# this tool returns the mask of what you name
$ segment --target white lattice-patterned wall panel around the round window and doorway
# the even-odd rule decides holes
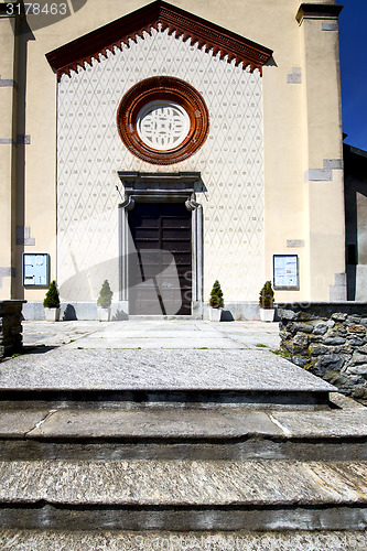
[[[117,131],[123,94],[154,75],[190,83],[211,116],[202,149],[172,166],[137,159]],[[166,31],[152,30],[86,69],[63,75],[57,114],[57,279],[63,300],[95,300],[105,277],[118,290],[119,170],[201,172],[207,188],[197,196],[204,213],[205,298],[219,279],[227,302],[257,300],[263,280],[262,91],[257,71],[248,73]]]

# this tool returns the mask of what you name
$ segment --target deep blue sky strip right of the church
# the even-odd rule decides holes
[[[367,151],[367,0],[337,0],[345,143]]]

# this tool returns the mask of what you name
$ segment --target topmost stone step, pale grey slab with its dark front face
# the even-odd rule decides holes
[[[336,388],[263,350],[74,349],[64,346],[6,361],[3,408],[61,402],[271,409],[327,408]]]

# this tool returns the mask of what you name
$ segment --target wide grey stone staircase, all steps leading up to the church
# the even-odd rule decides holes
[[[253,350],[2,363],[0,549],[366,549],[367,409],[335,390]]]

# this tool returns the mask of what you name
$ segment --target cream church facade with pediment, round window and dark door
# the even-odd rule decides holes
[[[36,8],[39,6],[39,8]],[[0,298],[234,318],[346,300],[332,0],[0,4]],[[46,8],[45,8],[46,7]]]

